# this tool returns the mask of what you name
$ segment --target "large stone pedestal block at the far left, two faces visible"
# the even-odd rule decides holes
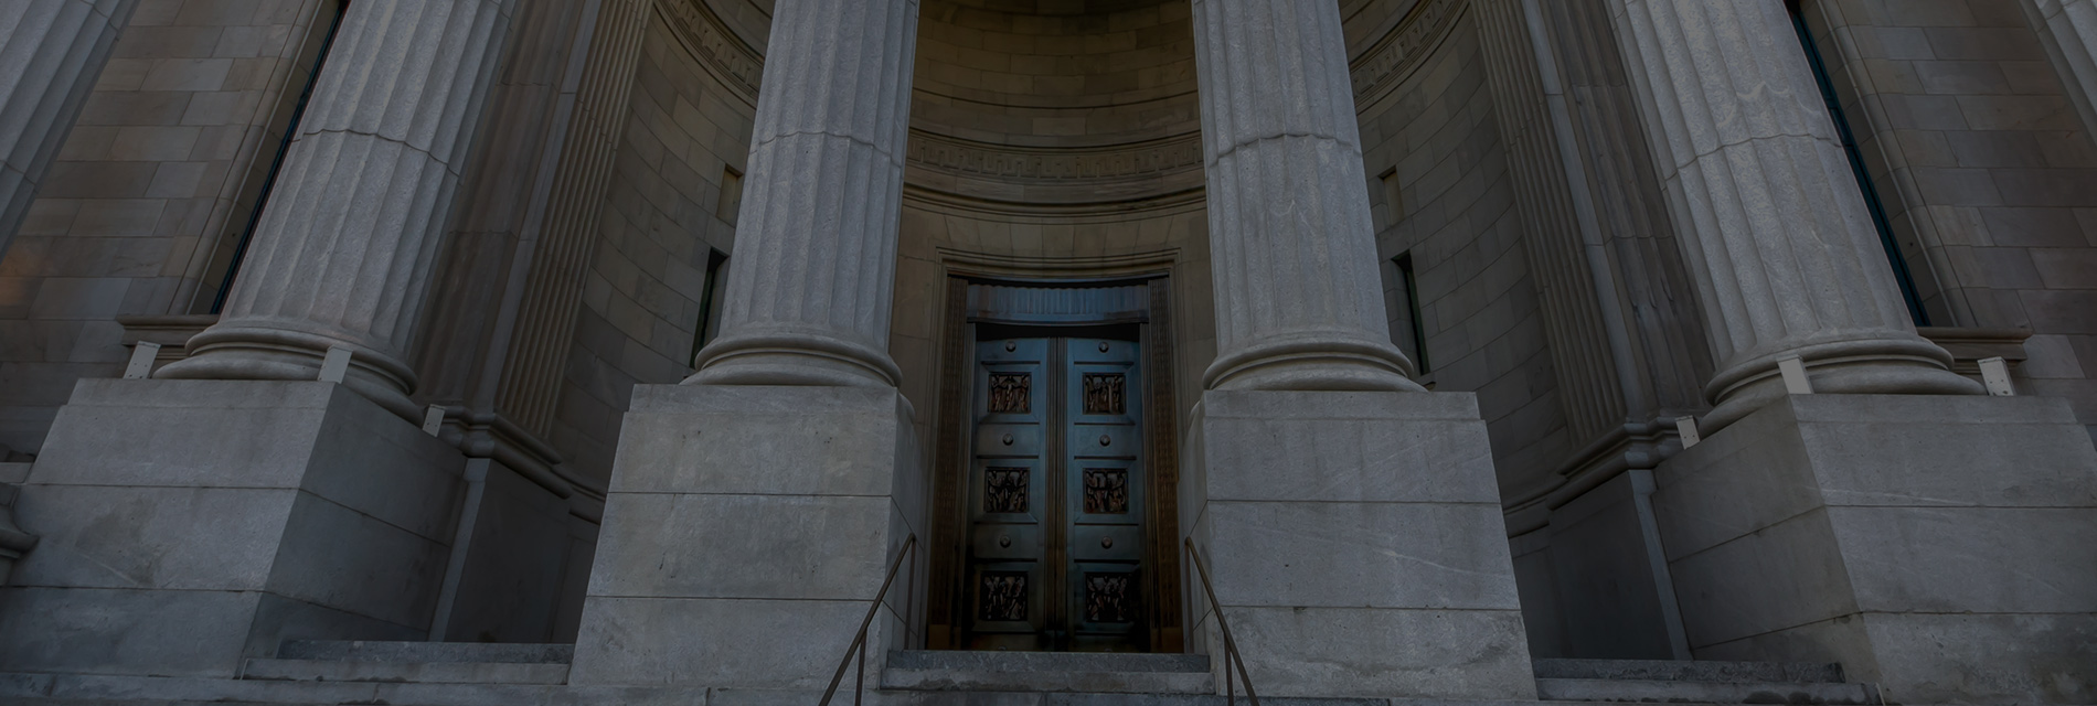
[[[424,639],[466,459],[344,385],[82,379],[0,612],[23,672],[233,677],[281,639]]]

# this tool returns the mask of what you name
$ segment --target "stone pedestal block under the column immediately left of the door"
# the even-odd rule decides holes
[[[923,543],[925,482],[895,390],[633,388],[570,683],[822,689],[904,540]],[[923,587],[921,545],[868,681],[921,641],[904,624]]]

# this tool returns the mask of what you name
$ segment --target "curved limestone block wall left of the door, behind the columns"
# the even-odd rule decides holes
[[[700,52],[723,40],[719,25],[665,4],[642,42],[552,434],[562,457],[596,478],[610,476],[633,385],[692,375],[707,262],[736,241],[721,182],[728,170],[742,174],[755,115],[755,86],[738,86],[723,63],[709,63],[717,54]]]

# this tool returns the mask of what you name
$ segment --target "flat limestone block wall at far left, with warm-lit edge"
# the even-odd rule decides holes
[[[138,4],[0,260],[0,446],[122,373],[117,314],[210,310],[333,2]]]

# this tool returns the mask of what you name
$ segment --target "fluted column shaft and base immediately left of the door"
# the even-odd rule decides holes
[[[916,0],[772,17],[721,337],[686,383],[889,385]]]

